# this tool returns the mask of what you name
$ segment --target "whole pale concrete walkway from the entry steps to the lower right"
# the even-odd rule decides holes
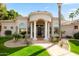
[[[59,45],[48,44],[34,44],[40,45],[47,49],[51,56],[78,56],[77,54],[71,53],[68,50],[61,48]]]

